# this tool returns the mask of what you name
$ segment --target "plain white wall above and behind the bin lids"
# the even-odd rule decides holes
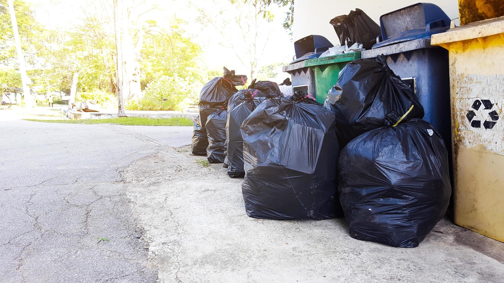
[[[295,0],[294,1],[294,41],[311,34],[325,36],[334,45],[339,44],[338,36],[329,21],[336,16],[348,15],[351,10],[359,8],[376,24],[380,25],[380,16],[412,4],[418,0]],[[451,19],[459,17],[457,0],[431,0],[439,6]]]

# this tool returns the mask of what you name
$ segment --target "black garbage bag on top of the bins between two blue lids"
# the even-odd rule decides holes
[[[352,43],[362,43],[362,47],[366,50],[371,49],[376,43],[376,37],[382,34],[380,26],[360,9],[350,11],[348,15],[338,16],[329,23],[334,26],[340,44],[343,45],[348,39]]]

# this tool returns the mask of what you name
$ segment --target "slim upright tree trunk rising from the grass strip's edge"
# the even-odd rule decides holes
[[[114,0],[114,31],[115,31],[115,49],[116,57],[116,73],[117,73],[117,116],[125,117],[124,112],[124,64],[122,62],[122,24],[124,17],[124,9],[122,0]],[[120,18],[119,18],[120,17]],[[126,80],[126,82],[128,82]]]

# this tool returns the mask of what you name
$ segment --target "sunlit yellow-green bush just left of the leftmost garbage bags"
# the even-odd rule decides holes
[[[194,77],[162,76],[149,83],[144,97],[128,104],[128,110],[182,110],[184,104],[195,103],[202,83]],[[185,100],[185,103],[184,103]]]

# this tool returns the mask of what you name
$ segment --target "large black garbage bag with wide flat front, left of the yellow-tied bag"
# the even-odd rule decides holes
[[[334,115],[302,92],[264,101],[241,127],[245,210],[260,219],[329,219],[337,193]]]

